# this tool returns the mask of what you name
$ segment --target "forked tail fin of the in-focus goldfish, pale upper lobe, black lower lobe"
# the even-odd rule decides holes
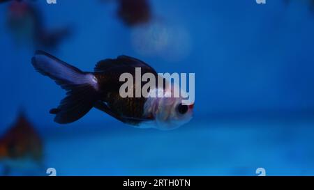
[[[50,77],[67,91],[57,109],[50,111],[56,115],[55,122],[66,124],[79,120],[98,100],[98,81],[94,74],[82,72],[43,51],[37,51],[31,63],[38,72]]]

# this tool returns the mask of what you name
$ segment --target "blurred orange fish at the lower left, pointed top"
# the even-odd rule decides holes
[[[43,140],[22,112],[0,138],[0,164],[3,175],[37,175],[43,166]]]

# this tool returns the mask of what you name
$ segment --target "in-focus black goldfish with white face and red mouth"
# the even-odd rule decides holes
[[[175,129],[193,116],[194,103],[182,104],[184,98],[181,96],[121,96],[120,88],[124,84],[120,80],[121,74],[129,73],[135,76],[135,68],[140,68],[142,76],[149,73],[160,79],[154,68],[137,58],[107,58],[96,64],[94,72],[83,72],[43,51],[37,51],[31,63],[40,74],[50,77],[67,91],[59,106],[50,110],[50,113],[55,115],[54,121],[59,124],[75,122],[92,108],[135,127],[162,130]],[[169,81],[165,82],[167,83]],[[136,85],[134,81],[133,86]],[[165,86],[154,86],[149,92],[172,93],[174,88]]]

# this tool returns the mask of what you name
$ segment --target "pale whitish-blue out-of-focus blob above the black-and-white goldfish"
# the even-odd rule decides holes
[[[192,47],[190,31],[185,26],[157,19],[133,29],[130,40],[137,54],[163,58],[170,63],[183,61]]]

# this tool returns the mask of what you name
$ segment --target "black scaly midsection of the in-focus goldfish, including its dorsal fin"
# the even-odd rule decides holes
[[[107,106],[114,113],[123,116],[124,122],[130,124],[137,124],[143,120],[151,119],[150,116],[144,116],[145,97],[122,98],[119,94],[119,88],[124,84],[124,82],[119,81],[119,77],[121,74],[128,72],[135,78],[135,67],[141,68],[142,74],[149,72],[158,77],[157,72],[147,63],[129,56],[119,56],[117,59],[100,61],[94,72],[99,84],[100,101],[107,102]],[[135,81],[134,86],[136,86]]]

